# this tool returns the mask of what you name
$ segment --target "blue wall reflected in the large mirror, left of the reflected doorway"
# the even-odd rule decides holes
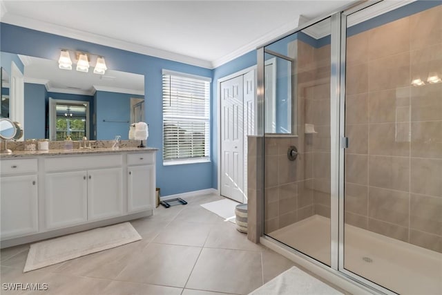
[[[46,137],[46,87],[25,83],[25,139]]]

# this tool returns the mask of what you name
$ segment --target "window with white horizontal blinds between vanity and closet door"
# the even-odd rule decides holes
[[[210,161],[210,82],[163,70],[164,165]]]

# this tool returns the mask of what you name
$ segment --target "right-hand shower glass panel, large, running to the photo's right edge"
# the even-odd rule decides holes
[[[399,294],[442,294],[441,16],[347,17],[344,268]]]

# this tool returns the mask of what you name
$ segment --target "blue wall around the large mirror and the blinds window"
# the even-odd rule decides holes
[[[0,23],[0,30],[1,51],[3,52],[58,60],[60,48],[72,48],[103,55],[106,57],[106,65],[109,69],[144,75],[146,123],[149,125],[147,142],[148,146],[159,149],[157,152],[157,187],[161,187],[163,196],[212,187],[211,162],[176,166],[162,165],[162,69],[204,77],[212,77],[212,70],[7,23]],[[256,63],[256,58],[254,63]]]

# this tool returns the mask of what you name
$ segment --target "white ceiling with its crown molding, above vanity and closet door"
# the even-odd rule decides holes
[[[355,1],[1,2],[5,23],[214,68]]]

